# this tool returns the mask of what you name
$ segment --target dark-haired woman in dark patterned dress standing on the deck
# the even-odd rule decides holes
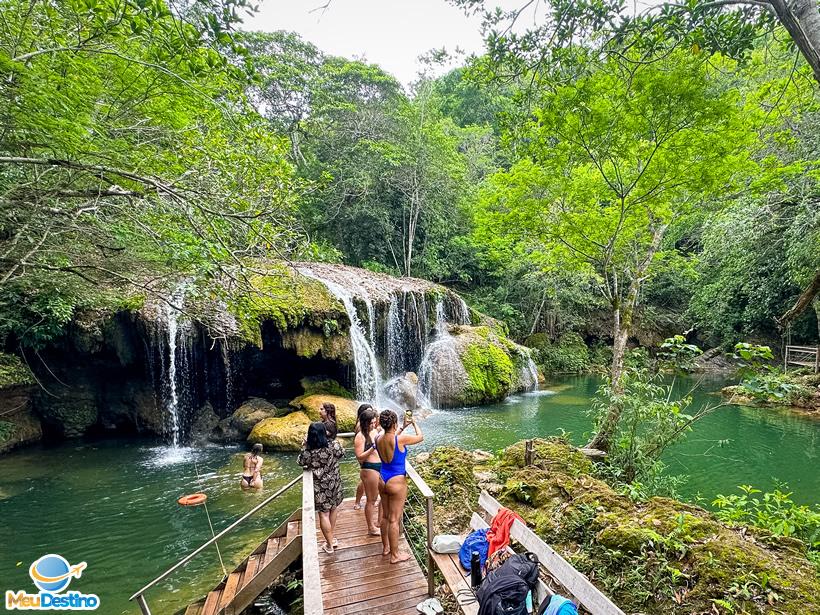
[[[336,528],[336,517],[339,504],[342,503],[342,475],[339,472],[339,459],[344,456],[344,449],[337,440],[328,440],[327,429],[322,422],[311,423],[302,452],[297,460],[306,470],[313,471],[313,501],[319,513],[319,527],[325,537],[322,549],[333,553],[339,541],[333,536]]]

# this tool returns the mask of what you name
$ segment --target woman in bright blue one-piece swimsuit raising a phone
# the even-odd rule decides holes
[[[392,410],[383,410],[379,415],[379,424],[384,433],[376,440],[376,450],[382,460],[379,472],[379,493],[382,496],[380,507],[382,533],[382,555],[390,556],[391,564],[398,564],[410,559],[409,553],[399,552],[399,528],[404,513],[404,501],[407,499],[407,447],[424,440],[418,425],[413,419],[405,418],[405,424],[398,428],[399,418]],[[403,433],[412,425],[415,435]]]

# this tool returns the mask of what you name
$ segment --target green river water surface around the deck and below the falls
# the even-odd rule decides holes
[[[422,448],[454,444],[496,450],[525,437],[567,432],[583,443],[590,429],[593,377],[562,378],[537,393],[517,395],[480,408],[439,411],[422,425]],[[691,382],[686,383],[690,385]],[[709,391],[724,384],[706,380],[695,405],[719,401]],[[685,474],[682,497],[708,504],[739,484],[770,489],[786,482],[801,503],[820,503],[820,420],[783,410],[730,406],[702,419],[667,455],[669,470]],[[59,553],[71,564],[88,563],[71,590],[96,593],[103,615],[138,613],[128,597],[208,538],[202,507],[177,499],[205,491],[219,531],[252,508],[264,494],[238,489],[239,447],[169,449],[145,440],[71,442],[0,457],[0,591],[36,593],[28,576],[32,561]],[[347,495],[356,466],[343,465]],[[294,455],[265,457],[265,493],[296,477]],[[228,569],[299,506],[293,489],[220,541]],[[148,592],[153,612],[173,613],[202,596],[221,577],[214,550]]]

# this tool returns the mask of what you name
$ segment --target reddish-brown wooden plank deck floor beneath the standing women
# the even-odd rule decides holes
[[[316,525],[316,540],[324,537]],[[364,510],[354,510],[353,500],[345,500],[336,522],[339,547],[334,553],[319,550],[322,606],[328,615],[418,615],[416,605],[427,598],[427,578],[411,557],[391,564],[382,556],[382,542],[370,536]],[[402,536],[401,548],[410,553]]]

